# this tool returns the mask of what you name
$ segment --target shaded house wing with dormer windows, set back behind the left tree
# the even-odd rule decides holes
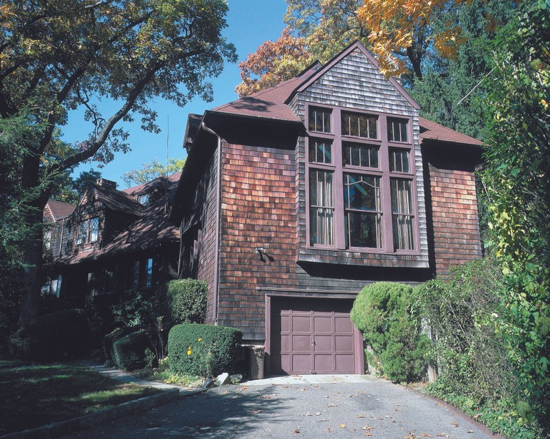
[[[101,178],[66,215],[50,200],[54,273],[50,292],[83,306],[117,300],[121,292],[154,289],[177,275],[179,229],[168,221],[180,173],[124,191]],[[54,288],[55,287],[55,288]]]

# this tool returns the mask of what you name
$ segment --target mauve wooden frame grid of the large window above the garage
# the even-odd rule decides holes
[[[331,132],[322,133],[320,131],[309,131],[307,121],[309,120],[309,111],[314,109],[327,109],[331,111]],[[344,136],[342,134],[341,120],[342,111],[374,116],[377,118],[377,139],[363,138],[358,136]],[[406,120],[407,121],[407,137],[408,142],[393,142],[388,140],[387,135],[387,120]],[[419,217],[418,217],[418,198],[417,198],[417,177],[415,167],[415,144],[412,136],[412,117],[382,113],[380,111],[364,111],[360,109],[352,109],[347,107],[338,107],[331,105],[321,105],[318,103],[305,103],[305,121],[306,121],[306,136],[305,136],[305,213],[306,213],[306,247],[316,250],[338,250],[349,251],[353,253],[379,253],[379,254],[396,254],[396,255],[419,255],[420,254],[420,233],[419,233]],[[332,158],[331,164],[317,163],[309,161],[309,148],[311,140],[330,140],[332,143]],[[378,167],[361,167],[352,164],[344,165],[344,143],[364,145],[366,147],[377,147],[378,151]],[[408,172],[390,171],[390,149],[399,149],[408,151]],[[333,220],[333,245],[326,244],[311,244],[310,221],[311,221],[311,204],[309,193],[309,175],[311,170],[322,170],[333,172],[333,205],[334,205],[334,220]],[[346,247],[345,236],[345,211],[344,208],[344,173],[355,173],[366,176],[380,177],[381,197],[382,197],[382,247]],[[395,248],[393,239],[393,213],[391,204],[391,180],[397,178],[399,180],[410,180],[411,200],[412,200],[412,250],[401,250]],[[366,211],[369,212],[369,211]]]

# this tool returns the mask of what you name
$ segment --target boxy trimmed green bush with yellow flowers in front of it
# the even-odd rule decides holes
[[[199,376],[234,372],[242,354],[242,339],[241,330],[226,326],[175,325],[168,334],[170,370]]]

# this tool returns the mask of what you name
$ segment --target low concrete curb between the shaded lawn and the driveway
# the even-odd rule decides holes
[[[204,392],[204,389],[197,389],[199,392],[182,392],[181,396],[194,395]],[[122,418],[123,416],[129,416],[131,414],[139,413],[140,411],[147,411],[153,407],[170,403],[173,400],[179,398],[179,389],[170,389],[162,393],[145,396],[144,398],[128,401],[122,403],[111,409],[104,409],[85,416],[79,416],[78,418],[63,420],[60,422],[52,422],[52,424],[44,425],[43,427],[37,427],[35,429],[29,429],[25,431],[16,431],[14,433],[8,433],[4,436],[0,436],[5,439],[43,439],[43,438],[58,438],[74,431],[87,429],[96,425],[103,424],[109,420]]]

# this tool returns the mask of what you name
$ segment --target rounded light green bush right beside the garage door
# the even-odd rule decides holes
[[[391,381],[418,381],[426,370],[430,340],[420,334],[413,303],[411,286],[377,282],[363,288],[351,310],[351,321],[372,348],[367,360]]]

